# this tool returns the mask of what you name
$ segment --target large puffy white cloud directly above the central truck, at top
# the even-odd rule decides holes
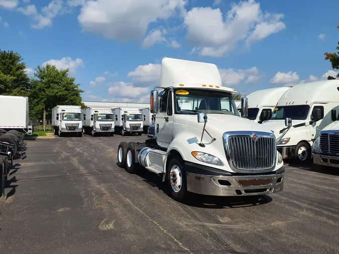
[[[200,55],[221,57],[241,42],[250,46],[285,29],[283,15],[263,14],[254,0],[233,4],[224,16],[220,9],[195,7],[184,17],[186,40]]]

